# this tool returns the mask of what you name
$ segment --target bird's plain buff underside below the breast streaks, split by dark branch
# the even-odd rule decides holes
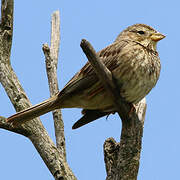
[[[120,95],[130,103],[137,103],[144,98],[158,80],[155,72],[150,74],[148,71],[142,69],[138,73],[137,71],[132,71],[126,76],[122,76],[119,73],[119,76],[115,77]],[[113,102],[104,90],[103,85],[98,81],[90,88],[66,99],[62,108],[100,109],[108,111],[109,109],[113,109]]]

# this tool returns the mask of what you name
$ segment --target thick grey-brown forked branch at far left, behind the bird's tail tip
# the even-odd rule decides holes
[[[31,104],[10,64],[13,5],[13,0],[1,1],[0,82],[16,111],[20,111],[30,107]],[[76,179],[64,157],[48,136],[39,118],[14,128],[5,122],[4,117],[0,117],[0,128],[22,134],[29,138],[55,179]]]

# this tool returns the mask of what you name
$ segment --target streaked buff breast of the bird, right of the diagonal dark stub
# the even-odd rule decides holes
[[[156,53],[134,48],[121,57],[119,72],[115,73],[120,94],[128,102],[137,103],[155,86],[160,74]]]

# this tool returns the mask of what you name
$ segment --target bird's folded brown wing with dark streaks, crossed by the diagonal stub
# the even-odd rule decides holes
[[[117,57],[127,44],[128,41],[117,41],[97,53],[100,60],[104,62],[110,71],[113,71],[118,66],[117,61],[119,61],[119,58]],[[80,92],[81,90],[91,87],[97,81],[98,77],[96,76],[93,67],[89,62],[87,62],[85,66],[66,84],[62,91],[59,92],[58,96],[63,98],[69,94],[76,93],[77,91]]]

